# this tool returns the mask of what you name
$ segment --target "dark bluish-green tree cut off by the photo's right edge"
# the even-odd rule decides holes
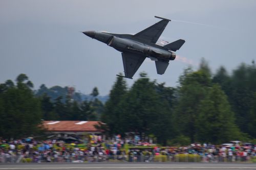
[[[256,92],[256,68],[252,65],[241,64],[233,71],[231,77],[232,89],[229,101],[233,111],[236,113],[236,123],[242,132],[252,135],[248,129],[250,124],[250,112],[253,107],[254,92]],[[256,136],[253,136],[256,137]]]

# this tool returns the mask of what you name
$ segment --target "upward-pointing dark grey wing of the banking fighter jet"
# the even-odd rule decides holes
[[[145,30],[133,35],[133,37],[143,42],[156,43],[170,20],[157,16],[155,17],[162,20],[155,23],[153,26],[148,27]]]

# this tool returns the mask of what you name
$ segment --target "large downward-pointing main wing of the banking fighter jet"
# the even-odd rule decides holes
[[[124,76],[132,79],[145,58],[143,55],[134,53],[122,53]]]

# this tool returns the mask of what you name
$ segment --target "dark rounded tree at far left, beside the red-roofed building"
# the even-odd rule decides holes
[[[40,101],[34,97],[33,84],[25,74],[18,75],[15,86],[11,81],[0,93],[0,136],[20,138],[40,132]]]

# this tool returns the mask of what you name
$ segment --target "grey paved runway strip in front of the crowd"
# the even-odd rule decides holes
[[[255,163],[16,163],[0,164],[1,169],[256,169]]]

